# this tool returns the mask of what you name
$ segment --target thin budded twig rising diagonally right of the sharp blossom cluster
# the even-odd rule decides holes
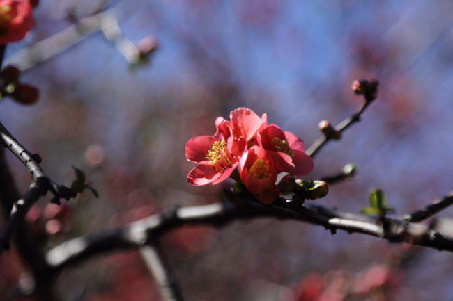
[[[355,122],[360,121],[360,116],[368,108],[368,106],[376,99],[378,92],[379,81],[377,79],[361,79],[360,81],[353,81],[351,88],[355,94],[364,96],[364,103],[355,111],[351,116],[340,122],[335,128],[332,127],[330,122],[323,120],[319,123],[319,130],[323,132],[323,136],[314,141],[314,143],[307,149],[305,154],[314,158],[314,156],[321,150],[321,148],[330,140],[340,140],[341,133],[348,127],[351,127]]]

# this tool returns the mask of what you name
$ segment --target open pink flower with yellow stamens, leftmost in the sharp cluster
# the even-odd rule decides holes
[[[244,138],[219,140],[212,136],[191,138],[185,145],[185,156],[188,161],[199,163],[187,176],[192,185],[217,184],[227,179],[239,165],[240,157],[246,152]]]

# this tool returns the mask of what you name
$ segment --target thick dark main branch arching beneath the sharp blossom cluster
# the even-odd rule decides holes
[[[229,202],[206,206],[182,207],[162,215],[153,215],[114,232],[75,238],[47,252],[47,263],[59,270],[69,264],[88,259],[112,250],[139,249],[160,234],[187,224],[205,224],[222,227],[229,222],[253,218],[279,218],[299,220],[321,225],[335,233],[337,229],[348,233],[362,233],[392,242],[432,247],[453,252],[453,236],[437,231],[428,225],[407,222],[399,218],[378,218],[372,215],[350,213],[309,204],[300,206],[286,200],[263,205],[252,195],[236,195],[225,191]]]

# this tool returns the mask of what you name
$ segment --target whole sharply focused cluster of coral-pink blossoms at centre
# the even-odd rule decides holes
[[[199,163],[187,176],[190,184],[240,178],[261,202],[271,204],[280,195],[275,184],[279,172],[298,176],[312,172],[313,160],[305,154],[304,141],[276,124],[268,125],[266,114],[259,117],[249,108],[238,108],[230,119],[218,117],[214,136],[194,137],[185,145],[187,160]]]

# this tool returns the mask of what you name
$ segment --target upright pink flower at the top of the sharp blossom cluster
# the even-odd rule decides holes
[[[226,125],[231,129],[231,137],[233,140],[238,140],[243,137],[247,142],[247,147],[258,145],[256,135],[259,131],[268,126],[268,117],[265,114],[261,118],[249,108],[237,108],[230,113],[231,121],[225,120],[223,117],[218,117],[215,120],[217,133],[214,137],[220,138],[229,134],[222,125]]]

